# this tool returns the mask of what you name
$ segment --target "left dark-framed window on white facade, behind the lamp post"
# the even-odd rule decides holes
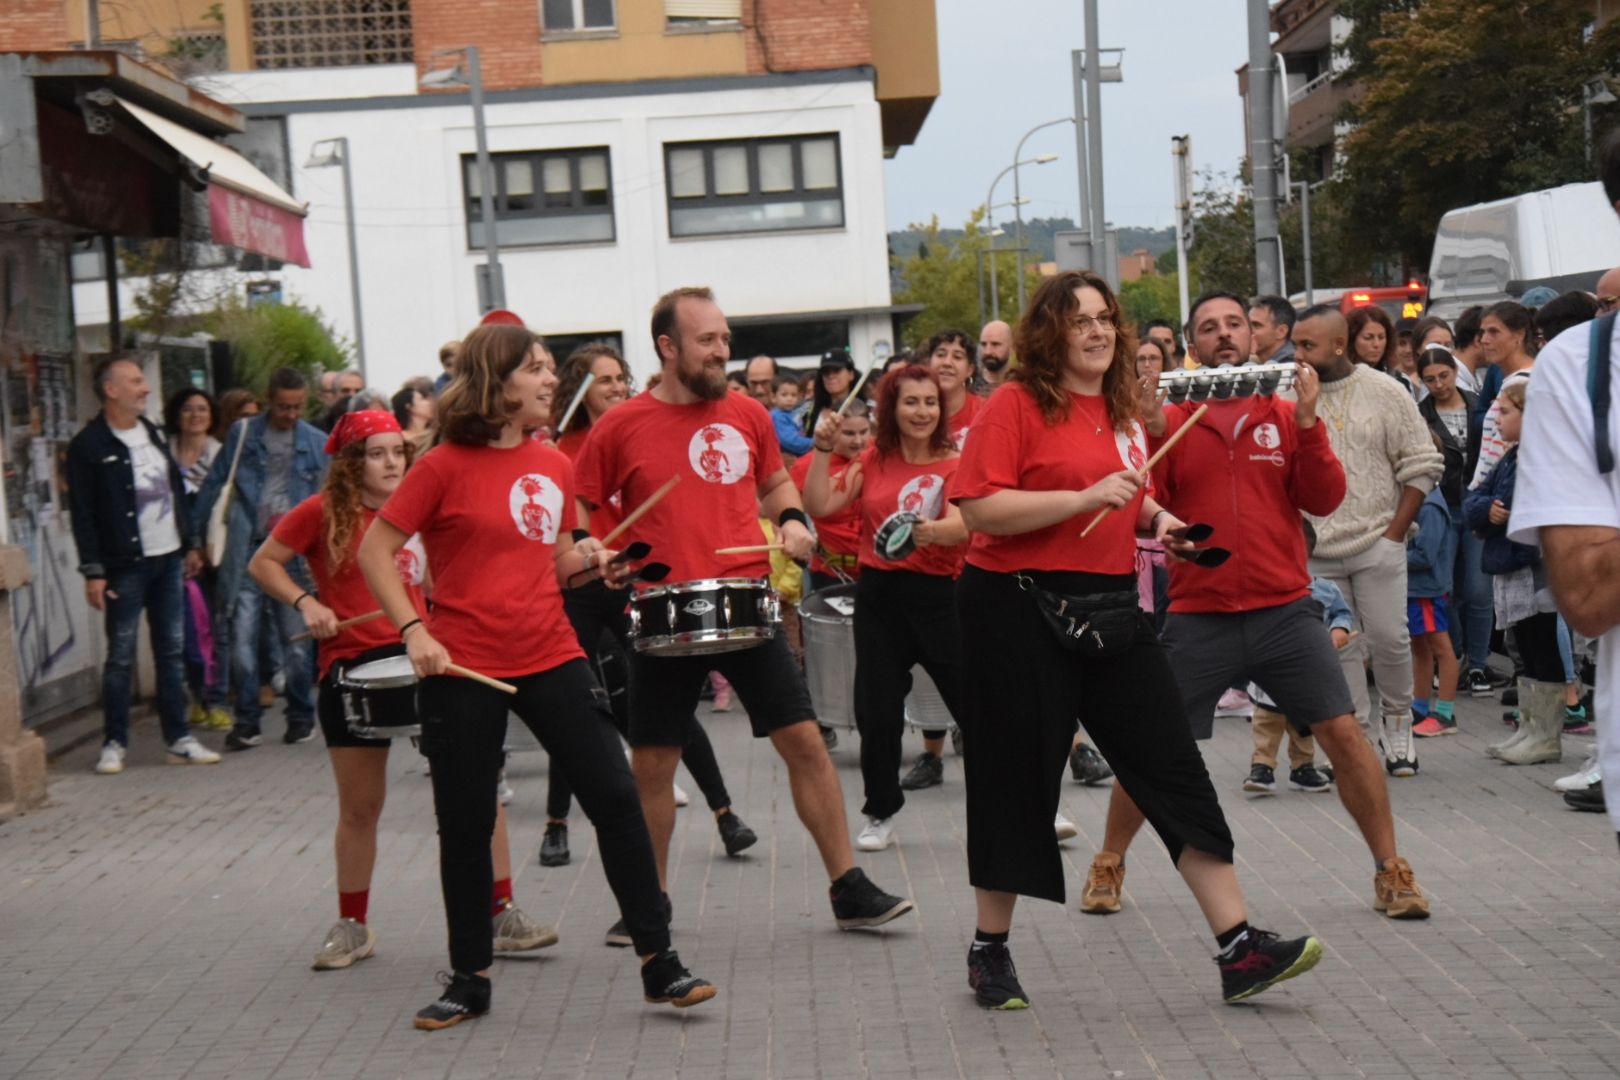
[[[612,241],[612,173],[606,146],[491,154],[496,243],[573,244]],[[462,155],[467,246],[484,246],[478,157]]]

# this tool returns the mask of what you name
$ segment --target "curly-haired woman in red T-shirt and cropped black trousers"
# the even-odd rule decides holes
[[[1165,541],[1181,523],[1144,487],[1136,358],[1119,319],[1095,274],[1059,274],[1035,291],[1017,327],[1019,368],[974,419],[951,494],[974,531],[956,591],[964,638],[974,631],[961,717],[978,912],[967,972],[991,1009],[1029,1004],[1006,946],[1017,897],[1064,899],[1047,823],[1076,717],[1197,897],[1226,1001],[1320,957],[1314,938],[1249,928],[1231,831],[1137,606],[1137,533]],[[1111,513],[1082,539],[1098,510]]]

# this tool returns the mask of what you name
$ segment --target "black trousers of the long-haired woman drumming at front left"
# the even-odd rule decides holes
[[[489,839],[509,709],[578,784],[580,806],[596,826],[603,871],[637,954],[667,949],[669,920],[642,798],[591,669],[569,661],[505,682],[517,687],[515,696],[454,675],[421,682],[421,753],[433,763],[450,967],[470,975],[492,960]]]

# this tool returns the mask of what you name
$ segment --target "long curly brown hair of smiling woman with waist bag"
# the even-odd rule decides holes
[[[1064,270],[1035,290],[1014,335],[1019,366],[1008,377],[1029,390],[1048,426],[1069,418],[1069,393],[1063,389],[1063,369],[1069,355],[1071,321],[1081,309],[1074,291],[1082,287],[1102,293],[1108,317],[1113,321],[1115,355],[1108,371],[1103,372],[1103,402],[1108,406],[1108,423],[1116,431],[1126,431],[1140,418],[1136,335],[1124,325],[1119,300],[1108,288],[1108,282],[1090,270]]]

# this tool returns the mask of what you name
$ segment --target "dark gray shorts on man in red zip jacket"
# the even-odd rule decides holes
[[[1171,612],[1165,651],[1194,738],[1210,737],[1215,704],[1234,683],[1259,685],[1299,730],[1356,711],[1322,606],[1309,596],[1252,612]]]

